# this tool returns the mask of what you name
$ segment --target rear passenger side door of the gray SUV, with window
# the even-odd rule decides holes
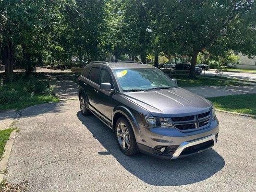
[[[89,105],[96,109],[96,105],[98,103],[98,76],[99,76],[100,68],[99,67],[92,67],[89,75],[88,81],[86,85],[86,92],[89,100]]]

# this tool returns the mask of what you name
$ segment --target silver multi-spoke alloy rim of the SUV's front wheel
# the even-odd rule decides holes
[[[122,122],[117,126],[117,138],[122,149],[127,151],[130,148],[130,133],[128,128]]]

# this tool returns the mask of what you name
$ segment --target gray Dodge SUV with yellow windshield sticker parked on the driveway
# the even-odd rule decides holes
[[[114,132],[123,154],[163,159],[213,147],[219,121],[210,101],[177,85],[159,69],[95,61],[79,77],[81,113],[93,113]]]

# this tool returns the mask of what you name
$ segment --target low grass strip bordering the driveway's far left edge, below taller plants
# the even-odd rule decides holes
[[[24,98],[24,99],[22,99],[20,101],[17,101],[15,103],[0,105],[0,111],[1,110],[8,110],[8,109],[20,110],[20,109],[27,108],[27,107],[33,106],[33,105],[38,105],[38,104],[42,104],[42,103],[49,103],[49,102],[58,102],[58,101],[59,101],[59,98],[57,98],[56,96],[35,95],[35,96],[28,97],[28,98]]]

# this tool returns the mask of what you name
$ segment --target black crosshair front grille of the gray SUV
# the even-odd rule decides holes
[[[175,128],[181,132],[193,132],[196,130],[204,129],[208,127],[211,122],[211,111],[207,111],[206,113],[196,114],[193,116],[194,116],[193,120],[182,121],[183,119],[188,119],[186,117],[179,117],[179,118],[172,117],[171,120]],[[189,118],[189,119],[192,119],[192,118]],[[192,126],[192,124],[195,124],[195,126]]]

